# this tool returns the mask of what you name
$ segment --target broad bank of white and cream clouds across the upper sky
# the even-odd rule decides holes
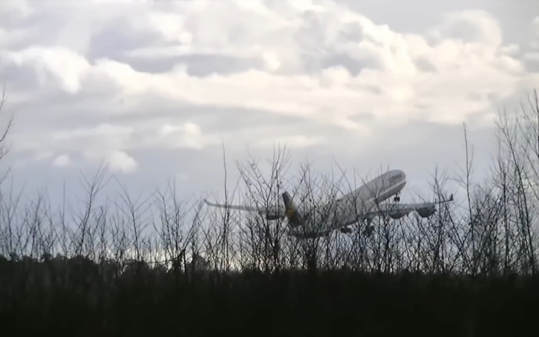
[[[344,136],[365,149],[413,120],[487,124],[477,115],[537,79],[483,10],[446,13],[420,34],[330,1],[17,2],[0,12],[0,46],[12,107],[32,116],[15,150],[125,172],[140,149]],[[254,112],[264,125],[246,122]]]

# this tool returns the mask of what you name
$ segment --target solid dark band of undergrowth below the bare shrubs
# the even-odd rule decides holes
[[[2,265],[3,326],[37,334],[534,335],[536,277],[347,270],[113,270],[84,258]],[[108,274],[111,274],[107,277]]]

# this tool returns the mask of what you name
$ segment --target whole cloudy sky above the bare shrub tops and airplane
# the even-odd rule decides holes
[[[103,160],[134,193],[176,177],[200,195],[223,190],[222,142],[229,172],[286,143],[413,190],[458,170],[462,122],[488,165],[497,110],[539,84],[538,43],[533,1],[2,0],[2,169],[55,200]]]

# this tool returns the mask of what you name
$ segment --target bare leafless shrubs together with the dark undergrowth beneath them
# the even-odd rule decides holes
[[[465,133],[466,135],[466,133]],[[170,187],[144,201],[100,199],[100,170],[80,213],[43,196],[0,195],[0,320],[17,333],[95,335],[533,336],[539,332],[539,107],[501,113],[499,153],[466,199],[376,219],[361,231],[296,241],[286,224],[181,202]],[[466,140],[466,137],[465,137]],[[3,151],[0,151],[4,154]],[[286,151],[265,170],[238,164],[225,202],[280,205],[286,188],[315,205],[357,185],[289,172]],[[287,179],[288,177],[288,179]],[[448,195],[450,177],[433,190]],[[361,183],[361,180],[357,180]],[[243,186],[240,188],[240,186]],[[310,206],[309,206],[310,207]],[[75,208],[73,208],[75,209]]]

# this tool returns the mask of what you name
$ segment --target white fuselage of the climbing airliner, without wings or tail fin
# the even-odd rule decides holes
[[[311,217],[304,226],[291,228],[290,233],[298,237],[324,236],[335,229],[363,221],[380,202],[398,194],[405,185],[403,171],[388,171],[337,199],[326,208],[325,214]]]

